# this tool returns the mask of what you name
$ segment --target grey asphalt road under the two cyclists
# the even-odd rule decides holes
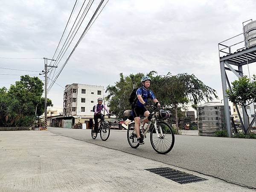
[[[145,145],[131,148],[124,130],[111,130],[107,141],[102,141],[99,135],[93,140],[90,130],[85,129],[49,127],[48,130],[256,189],[256,140],[175,135],[172,151],[162,155],[151,147],[149,137],[144,140]]]

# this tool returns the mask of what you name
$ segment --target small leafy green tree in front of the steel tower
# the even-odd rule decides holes
[[[249,115],[246,110],[246,106],[256,102],[256,76],[253,75],[253,81],[250,82],[250,79],[247,76],[243,76],[239,78],[239,80],[235,80],[231,83],[233,87],[231,89],[227,89],[227,98],[235,103],[239,104],[244,108],[246,113],[248,122]],[[254,119],[255,120],[255,119]],[[253,124],[253,122],[251,123]],[[244,133],[250,132],[250,125],[248,128],[244,128]]]

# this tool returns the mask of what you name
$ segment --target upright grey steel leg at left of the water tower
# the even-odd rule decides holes
[[[225,110],[227,135],[228,135],[228,137],[231,137],[231,123],[230,123],[229,105],[228,105],[228,99],[227,99],[227,93],[226,93],[227,82],[226,82],[224,61],[220,62],[220,67],[221,67],[221,83],[222,83],[222,92],[223,92],[223,99],[224,99],[224,110]]]

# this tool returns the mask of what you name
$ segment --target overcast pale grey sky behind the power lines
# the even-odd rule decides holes
[[[1,1],[0,87],[9,88],[21,75],[39,74],[3,68],[41,71],[43,57],[57,58],[60,49],[53,56],[75,2]],[[85,5],[89,2],[86,0]],[[60,47],[83,3],[77,1]],[[95,0],[63,58],[49,61],[58,64],[56,72],[67,61],[98,5],[99,0]],[[66,84],[107,87],[119,80],[119,73],[126,76],[155,70],[159,75],[194,74],[215,89],[221,100],[218,43],[242,33],[244,21],[256,20],[255,9],[253,0],[109,0],[67,61],[48,98],[54,109],[61,111]],[[243,37],[239,40],[243,41]],[[256,74],[253,63],[243,67],[245,75],[248,67],[250,75]],[[49,77],[54,79],[56,74],[52,72]],[[236,79],[232,72],[227,74],[230,81]],[[43,75],[38,77],[44,80]]]

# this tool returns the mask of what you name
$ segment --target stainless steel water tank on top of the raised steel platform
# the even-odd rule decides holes
[[[249,48],[256,45],[256,20],[246,24],[244,31],[244,46]]]

